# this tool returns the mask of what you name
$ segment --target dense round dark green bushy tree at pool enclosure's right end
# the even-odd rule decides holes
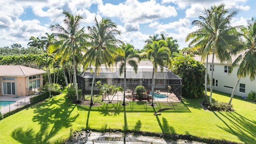
[[[182,77],[182,96],[198,98],[204,96],[205,66],[190,55],[179,55],[172,60],[171,70]]]

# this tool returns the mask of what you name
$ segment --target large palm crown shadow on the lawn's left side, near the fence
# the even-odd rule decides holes
[[[64,96],[60,99],[50,99],[41,104],[36,104],[34,109],[33,122],[37,122],[40,130],[33,128],[19,127],[13,130],[12,137],[20,143],[27,144],[48,144],[48,140],[55,136],[61,128],[72,126],[72,122],[79,116],[70,116],[76,105],[68,106],[69,100]],[[64,101],[64,102],[63,102]],[[51,126],[52,125],[52,126]],[[51,129],[51,130],[49,130]]]

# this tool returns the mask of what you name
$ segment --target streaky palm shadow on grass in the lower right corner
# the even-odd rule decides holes
[[[242,142],[252,144],[256,142],[256,121],[249,120],[236,112],[229,112],[228,115],[222,112],[213,112],[226,126],[218,126],[222,130],[237,136]],[[224,117],[224,118],[221,118]],[[230,122],[231,124],[228,124]]]

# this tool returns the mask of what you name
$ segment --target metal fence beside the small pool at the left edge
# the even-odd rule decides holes
[[[30,98],[31,97],[32,96],[21,99],[21,100],[18,100],[16,102],[13,102],[12,104],[2,106],[1,109],[0,109],[0,113],[1,114],[6,114],[7,112],[11,112],[13,110],[16,110],[16,109],[22,107],[22,106],[26,106],[26,105],[30,104]]]

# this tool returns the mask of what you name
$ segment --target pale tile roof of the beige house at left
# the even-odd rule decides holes
[[[32,76],[46,73],[44,70],[19,65],[0,65],[0,76]]]

